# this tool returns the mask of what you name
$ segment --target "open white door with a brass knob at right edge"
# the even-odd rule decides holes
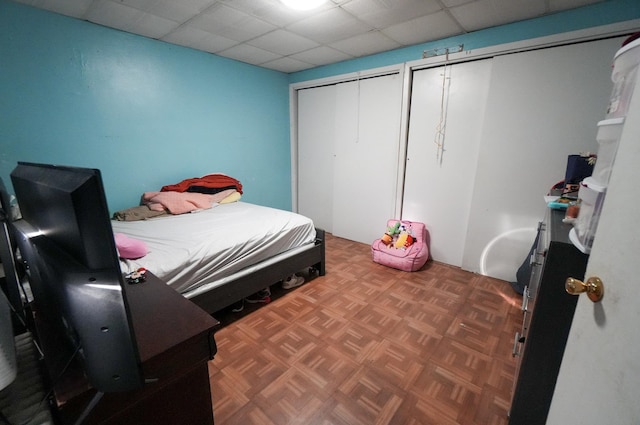
[[[549,411],[550,425],[640,424],[640,90],[627,114],[585,279]]]

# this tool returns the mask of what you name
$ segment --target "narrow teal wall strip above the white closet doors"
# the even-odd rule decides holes
[[[425,50],[464,44],[465,50],[481,49],[498,44],[544,37],[590,27],[640,19],[640,0],[608,0],[579,9],[543,16],[460,36],[417,44],[377,55],[326,65],[291,75],[291,82],[330,77],[382,66],[422,59]]]

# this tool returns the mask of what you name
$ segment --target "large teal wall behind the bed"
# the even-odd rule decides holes
[[[99,168],[111,211],[223,172],[291,208],[287,74],[0,0],[0,177]]]

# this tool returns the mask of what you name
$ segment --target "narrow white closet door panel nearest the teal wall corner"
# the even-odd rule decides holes
[[[332,233],[336,86],[297,94],[298,213]]]

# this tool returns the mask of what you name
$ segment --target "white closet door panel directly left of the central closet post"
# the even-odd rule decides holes
[[[340,84],[333,234],[370,244],[393,218],[400,139],[398,74]]]

